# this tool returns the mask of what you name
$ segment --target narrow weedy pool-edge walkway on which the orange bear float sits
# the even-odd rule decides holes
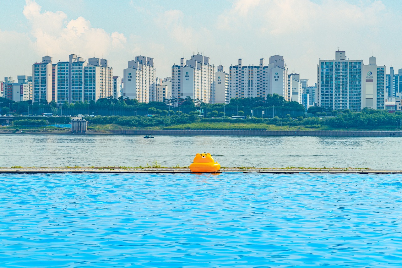
[[[123,167],[21,167],[0,168],[0,173],[24,174],[24,173],[195,173],[188,168],[123,168]],[[222,168],[217,172],[210,173],[355,173],[355,174],[402,174],[402,170],[373,170],[351,168]]]

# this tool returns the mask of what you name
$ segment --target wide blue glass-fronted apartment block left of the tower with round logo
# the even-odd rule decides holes
[[[362,60],[336,51],[335,60],[321,60],[317,69],[318,106],[330,111],[361,110]]]

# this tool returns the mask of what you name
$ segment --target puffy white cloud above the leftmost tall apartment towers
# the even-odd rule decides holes
[[[40,55],[63,59],[74,52],[84,57],[94,54],[105,57],[123,49],[127,42],[122,33],[110,34],[104,29],[93,28],[82,16],[68,21],[62,11],[41,12],[41,6],[35,0],[26,0],[23,14],[31,26],[33,43]]]

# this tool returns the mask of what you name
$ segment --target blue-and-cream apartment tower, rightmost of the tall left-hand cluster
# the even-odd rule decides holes
[[[113,69],[109,67],[109,60],[90,58],[84,67],[84,78],[82,101],[113,96]]]

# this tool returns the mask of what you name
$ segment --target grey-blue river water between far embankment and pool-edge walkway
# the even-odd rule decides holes
[[[400,169],[402,137],[0,135],[0,167],[188,166],[211,153],[223,167]]]

